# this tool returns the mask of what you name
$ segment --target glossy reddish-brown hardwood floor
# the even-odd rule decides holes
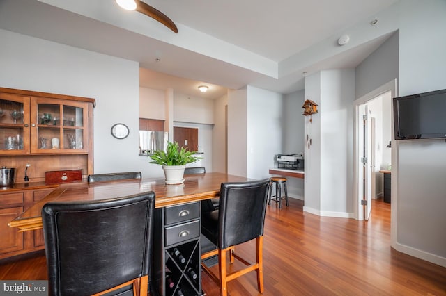
[[[390,247],[390,204],[374,201],[368,222],[318,217],[302,205],[291,199],[288,208],[267,208],[263,295],[446,295],[446,268]],[[254,260],[254,242],[236,252]],[[42,255],[0,265],[0,279],[46,278]],[[202,279],[206,295],[219,294],[204,272]],[[228,291],[260,295],[256,286],[250,272],[230,281]]]

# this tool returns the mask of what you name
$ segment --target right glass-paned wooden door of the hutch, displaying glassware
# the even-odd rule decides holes
[[[84,103],[33,98],[31,117],[36,118],[36,126],[31,129],[31,152],[86,151],[86,114]]]

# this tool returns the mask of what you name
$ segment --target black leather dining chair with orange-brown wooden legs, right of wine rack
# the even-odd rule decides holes
[[[250,271],[257,273],[257,288],[263,293],[263,225],[265,223],[268,186],[270,180],[222,183],[218,210],[203,212],[201,233],[217,246],[217,249],[201,255],[201,260],[218,255],[220,277],[205,263],[203,270],[220,286],[220,295],[227,295],[227,282]],[[234,253],[236,245],[256,239],[256,263],[249,263]],[[234,258],[246,265],[241,270],[227,274],[226,252],[229,261]]]

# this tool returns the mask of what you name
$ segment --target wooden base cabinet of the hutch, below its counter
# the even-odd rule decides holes
[[[45,249],[43,230],[19,232],[8,223],[48,195],[55,186],[26,190],[5,190],[0,193],[0,259]]]

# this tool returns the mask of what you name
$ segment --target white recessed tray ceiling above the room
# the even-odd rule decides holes
[[[355,67],[369,56],[390,32],[343,49],[334,43],[398,0],[144,1],[178,34],[114,0],[0,0],[0,28],[137,61],[145,88],[215,99],[249,84],[288,94],[303,89],[303,72]],[[334,54],[320,54],[328,46]],[[202,84],[210,86],[204,94]]]

